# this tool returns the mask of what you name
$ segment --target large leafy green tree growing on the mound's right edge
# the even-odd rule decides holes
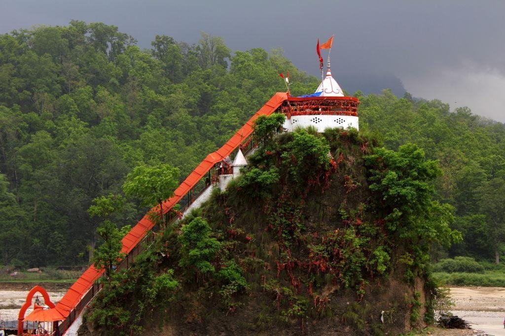
[[[417,266],[428,262],[431,242],[449,247],[461,240],[461,234],[449,227],[452,207],[432,199],[430,182],[440,169],[436,161],[425,159],[422,149],[414,144],[400,146],[397,152],[377,148],[365,156],[365,164],[370,190],[380,195],[377,208],[386,209],[386,228],[393,237],[411,242]]]

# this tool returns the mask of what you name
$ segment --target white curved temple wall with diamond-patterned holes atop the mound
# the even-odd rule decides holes
[[[353,127],[360,129],[359,118],[355,116],[329,116],[329,115],[310,115],[310,116],[291,116],[291,119],[286,119],[283,127],[288,132],[293,131],[296,127],[314,126],[318,132],[323,132],[327,128],[341,127],[343,129]]]

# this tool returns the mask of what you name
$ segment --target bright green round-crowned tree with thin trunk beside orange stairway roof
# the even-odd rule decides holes
[[[166,218],[163,215],[163,201],[174,195],[178,178],[179,169],[170,164],[139,165],[126,177],[123,191],[127,196],[138,197],[143,206],[158,204],[159,218],[164,229]]]

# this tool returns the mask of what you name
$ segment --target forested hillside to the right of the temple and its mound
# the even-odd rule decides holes
[[[361,128],[378,132],[387,148],[412,142],[438,160],[437,197],[454,207],[452,227],[464,238],[449,254],[496,259],[505,242],[503,124],[472,115],[468,107],[450,111],[439,100],[414,101],[409,94],[357,96]]]

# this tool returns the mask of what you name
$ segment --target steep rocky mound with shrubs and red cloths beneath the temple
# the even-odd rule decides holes
[[[356,130],[273,129],[257,127],[225,192],[106,282],[80,334],[397,334],[432,321],[429,248],[459,239],[431,198],[436,162]]]

